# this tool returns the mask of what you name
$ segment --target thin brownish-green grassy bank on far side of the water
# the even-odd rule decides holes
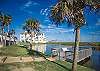
[[[48,42],[47,44],[74,46],[74,42]],[[80,42],[80,46],[100,46],[100,42]]]

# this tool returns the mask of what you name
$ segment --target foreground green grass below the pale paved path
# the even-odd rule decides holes
[[[44,61],[44,62],[27,62],[27,63],[12,63],[0,64],[0,70],[11,71],[16,68],[33,68],[35,71],[71,71],[71,63],[65,61]],[[94,71],[93,69],[78,65],[78,71]]]

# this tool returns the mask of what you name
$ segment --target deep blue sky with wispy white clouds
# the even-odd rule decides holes
[[[43,32],[48,41],[73,42],[75,32],[73,27],[68,27],[67,23],[56,27],[49,20],[50,7],[56,4],[57,0],[0,0],[0,11],[12,16],[10,28],[14,28],[16,36],[20,33],[25,20],[36,18],[41,23]],[[89,14],[84,10],[86,25],[81,27],[81,42],[100,42],[100,14]]]

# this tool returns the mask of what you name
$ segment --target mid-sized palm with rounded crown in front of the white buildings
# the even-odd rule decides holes
[[[31,33],[31,41],[32,41],[32,31],[34,33],[39,32],[39,28],[40,28],[40,23],[38,20],[36,19],[28,19],[25,22],[25,25],[23,27],[24,30],[26,30],[28,33]]]

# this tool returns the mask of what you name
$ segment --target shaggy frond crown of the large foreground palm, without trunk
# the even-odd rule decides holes
[[[49,18],[56,25],[62,24],[67,18],[69,24],[81,27],[86,24],[83,15],[84,8],[89,5],[91,9],[98,9],[99,3],[99,0],[59,0],[51,8]]]

